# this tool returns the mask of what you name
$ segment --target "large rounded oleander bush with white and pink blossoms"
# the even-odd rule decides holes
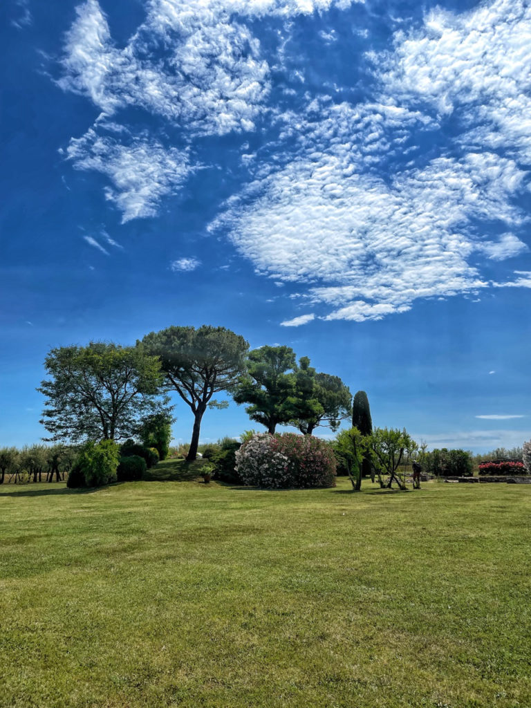
[[[331,445],[311,435],[256,433],[236,450],[236,472],[244,484],[270,489],[336,485]]]

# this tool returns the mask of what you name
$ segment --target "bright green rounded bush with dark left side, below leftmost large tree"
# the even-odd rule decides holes
[[[114,440],[89,440],[81,448],[67,480],[70,489],[113,484],[117,480],[120,453]]]

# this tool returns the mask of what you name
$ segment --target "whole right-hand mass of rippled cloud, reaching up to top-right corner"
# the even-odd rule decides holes
[[[379,101],[314,99],[306,116],[282,115],[280,145],[290,147],[256,167],[212,229],[228,227],[257,273],[309,285],[302,297],[328,306],[325,319],[381,319],[417,298],[531,287],[529,275],[493,283],[472,265],[478,254],[501,261],[528,250],[513,233],[526,219],[514,198],[528,184],[527,38],[531,9],[520,0],[461,16],[437,10],[415,33],[397,33],[394,51],[374,57]],[[418,152],[413,137],[440,130],[457,108],[466,127],[447,154],[460,156],[406,163]],[[478,120],[498,130],[496,144],[470,137]],[[511,230],[484,235],[500,222]]]

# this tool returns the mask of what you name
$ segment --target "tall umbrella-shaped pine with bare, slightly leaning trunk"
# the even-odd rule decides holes
[[[168,327],[147,334],[137,344],[160,358],[168,389],[190,406],[194,423],[186,459],[193,460],[198,454],[202,416],[207,407],[224,407],[212,396],[232,392],[245,370],[249,343],[224,327],[203,325],[198,329]]]

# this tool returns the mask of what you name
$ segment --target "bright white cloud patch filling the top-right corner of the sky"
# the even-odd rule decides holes
[[[494,0],[458,15],[435,8],[423,28],[396,35],[382,78],[406,101],[430,103],[441,115],[460,110],[467,144],[507,148],[529,163],[530,43],[527,0]]]

